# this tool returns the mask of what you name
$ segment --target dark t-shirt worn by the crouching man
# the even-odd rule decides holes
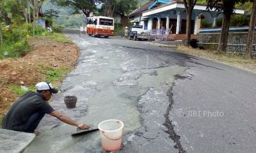
[[[24,131],[25,123],[33,113],[50,114],[53,111],[40,93],[28,91],[13,103],[3,119],[2,129]]]

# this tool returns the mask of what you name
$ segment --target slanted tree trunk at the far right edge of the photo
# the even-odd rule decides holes
[[[248,38],[247,38],[246,49],[245,49],[245,58],[246,59],[253,58],[252,57],[252,48],[253,48],[252,44],[253,44],[255,23],[256,23],[256,0],[253,1],[252,10],[251,10]]]

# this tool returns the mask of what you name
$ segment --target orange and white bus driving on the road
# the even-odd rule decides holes
[[[99,37],[114,36],[114,18],[105,16],[94,16],[87,18],[87,34]]]

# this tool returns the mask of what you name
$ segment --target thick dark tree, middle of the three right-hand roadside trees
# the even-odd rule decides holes
[[[226,52],[229,25],[234,7],[238,3],[245,3],[246,0],[206,0],[206,2],[208,10],[215,9],[216,11],[223,12],[221,36],[216,53],[220,54],[221,52]]]

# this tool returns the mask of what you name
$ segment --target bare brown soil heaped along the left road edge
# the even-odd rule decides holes
[[[17,59],[4,59],[0,61],[0,117],[9,109],[18,97],[6,85],[35,86],[37,82],[46,79],[41,73],[42,66],[49,65],[54,68],[62,66],[73,68],[79,57],[79,49],[72,43],[57,43],[45,37],[29,39],[31,52]],[[60,83],[60,82],[59,82]],[[59,83],[55,83],[57,86]]]

